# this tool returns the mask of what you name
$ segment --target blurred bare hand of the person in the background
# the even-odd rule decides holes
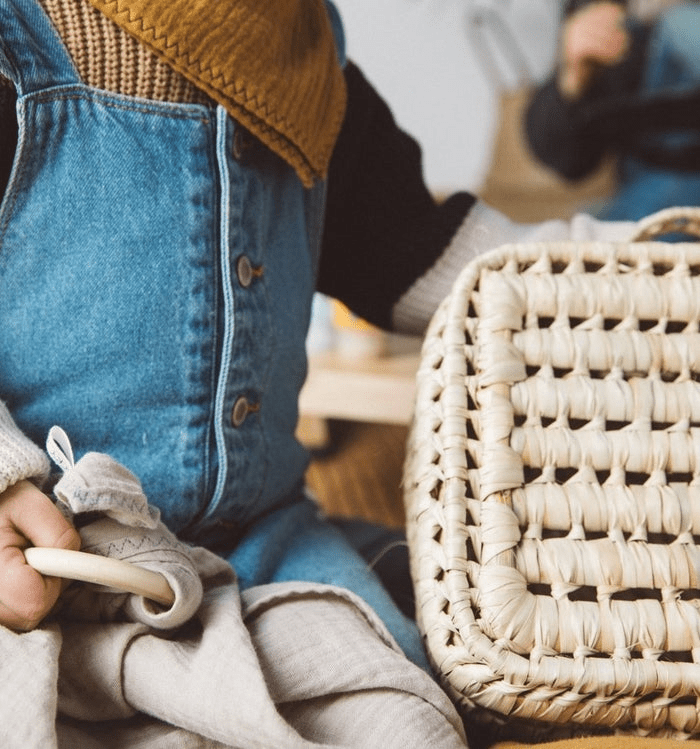
[[[624,8],[607,0],[586,5],[566,21],[558,76],[564,96],[578,99],[597,71],[623,59],[629,47],[624,22]]]

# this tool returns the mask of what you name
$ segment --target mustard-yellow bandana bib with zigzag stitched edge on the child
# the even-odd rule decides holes
[[[345,84],[323,0],[90,0],[297,172],[325,177]]]

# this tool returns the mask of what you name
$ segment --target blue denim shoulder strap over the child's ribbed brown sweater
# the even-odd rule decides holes
[[[19,96],[80,83],[80,76],[38,0],[0,0],[0,72]]]

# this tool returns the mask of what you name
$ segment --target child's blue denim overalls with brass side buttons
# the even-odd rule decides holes
[[[339,29],[335,10],[329,7]],[[222,107],[84,85],[36,0],[0,3],[19,141],[0,208],[0,398],[43,444],[112,455],[165,523],[243,588],[364,597],[413,660],[417,630],[304,495],[294,438],[324,185]]]

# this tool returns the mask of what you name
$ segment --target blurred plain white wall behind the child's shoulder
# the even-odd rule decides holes
[[[476,11],[498,10],[532,74],[541,78],[554,51],[558,0],[335,3],[348,56],[421,144],[428,185],[436,192],[478,189],[488,165],[498,92],[469,38],[469,20]],[[504,61],[498,58],[505,73],[512,66]],[[512,76],[507,78],[512,85]]]

